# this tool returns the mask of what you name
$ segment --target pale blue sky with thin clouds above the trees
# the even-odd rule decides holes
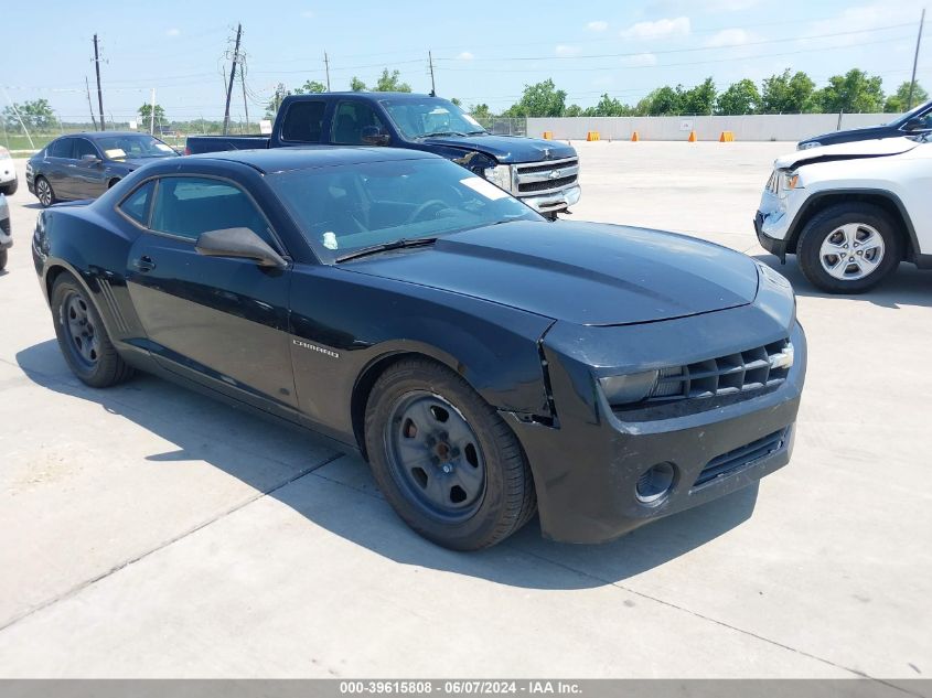
[[[784,67],[823,84],[860,67],[885,88],[909,78],[923,0],[649,0],[645,2],[158,2],[45,0],[41,17],[6,0],[0,86],[9,99],[45,97],[64,120],[86,119],[84,79],[94,87],[92,36],[99,34],[105,112],[129,118],[157,89],[169,118],[223,115],[224,52],[237,22],[250,116],[274,86],[324,79],[333,89],[353,75],[372,83],[397,68],[416,92],[428,92],[433,52],[438,94],[465,104],[511,105],[522,88],[547,77],[568,103],[594,104],[603,92],[633,103],[656,86],[693,85],[713,76],[719,88],[756,82]],[[926,30],[932,29],[932,13]],[[932,88],[932,31],[919,78]],[[932,92],[932,89],[930,89]],[[95,109],[96,109],[96,95]],[[0,106],[7,96],[0,92]],[[243,97],[234,93],[234,116]]]

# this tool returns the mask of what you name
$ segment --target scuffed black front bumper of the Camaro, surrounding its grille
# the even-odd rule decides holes
[[[728,336],[719,333],[731,331],[741,342],[741,326],[753,327],[746,336],[767,336],[759,331],[769,323],[751,312],[725,311],[707,318],[715,315],[721,318],[705,321],[710,336]],[[657,326],[667,323],[652,324],[655,326],[641,330],[655,333],[647,342],[661,336],[664,331]],[[669,324],[678,325],[666,332],[678,335],[679,342],[684,336],[703,336],[693,332],[695,319]],[[778,332],[785,336],[785,329]],[[773,339],[767,336],[768,342]],[[510,416],[534,473],[544,535],[567,543],[611,540],[753,484],[785,465],[793,450],[806,371],[805,334],[795,322],[790,339],[795,361],[779,387],[701,411],[689,411],[684,405],[678,414],[675,409],[657,410],[657,415],[644,410],[649,414],[635,418],[612,411],[591,389],[585,395],[582,386],[591,385],[591,376],[583,375],[586,369],[564,366],[558,356],[548,355],[557,423],[546,426]],[[695,407],[701,399],[706,398],[684,402]],[[673,464],[674,484],[658,502],[642,503],[636,496],[638,481],[660,463]],[[700,476],[703,482],[697,484]]]

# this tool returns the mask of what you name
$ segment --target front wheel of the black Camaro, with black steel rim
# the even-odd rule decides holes
[[[491,547],[537,508],[517,438],[465,380],[432,361],[403,359],[379,376],[366,405],[365,442],[395,512],[446,548]]]

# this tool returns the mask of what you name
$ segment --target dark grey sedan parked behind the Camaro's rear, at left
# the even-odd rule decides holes
[[[56,138],[29,159],[25,182],[39,203],[97,198],[147,162],[178,152],[148,133],[101,131]]]

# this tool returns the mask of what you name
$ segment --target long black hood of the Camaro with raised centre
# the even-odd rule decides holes
[[[624,226],[516,221],[344,268],[480,298],[554,320],[621,325],[754,300],[744,255],[683,235]]]

